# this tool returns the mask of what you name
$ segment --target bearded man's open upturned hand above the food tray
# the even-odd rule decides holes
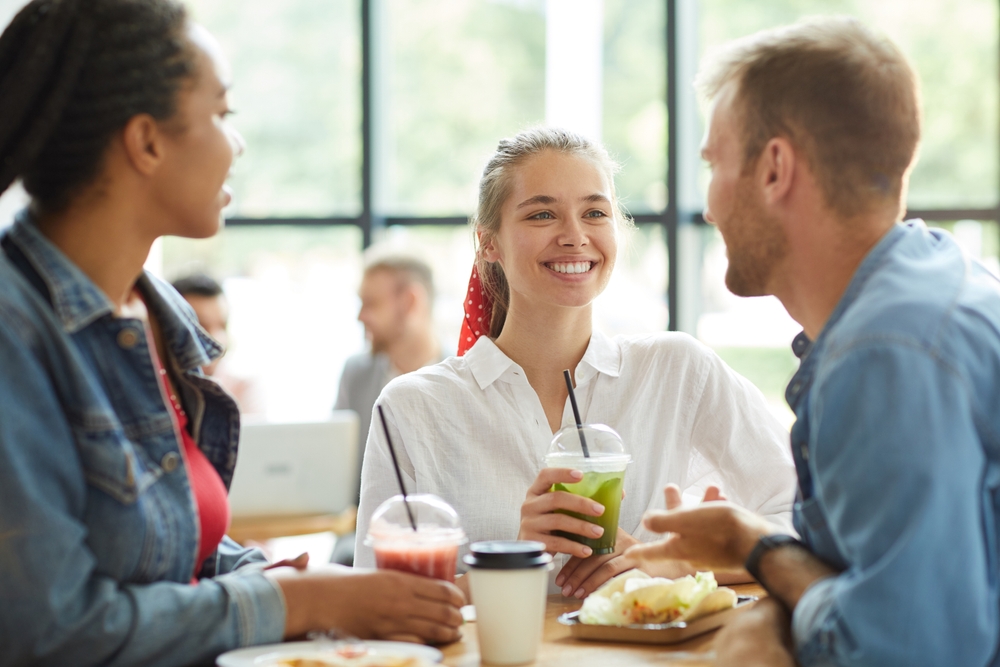
[[[726,502],[715,487],[709,487],[704,502],[692,508],[679,507],[677,487],[668,485],[664,493],[668,509],[647,512],[643,523],[668,535],[659,542],[634,546],[625,554],[644,569],[642,563],[669,559],[687,561],[697,569],[738,571],[761,535],[777,532],[763,518]]]

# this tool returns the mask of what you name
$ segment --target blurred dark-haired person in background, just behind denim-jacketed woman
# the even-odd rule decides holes
[[[262,415],[264,408],[254,383],[232,373],[223,359],[229,350],[229,300],[215,278],[194,273],[174,280],[171,285],[194,309],[198,324],[222,347],[223,356],[202,366],[205,375],[222,385],[236,399],[244,417]]]

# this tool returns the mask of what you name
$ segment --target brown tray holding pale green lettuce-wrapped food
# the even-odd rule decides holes
[[[711,572],[663,579],[640,570],[618,575],[559,622],[577,639],[673,644],[710,632],[757,598],[719,587]]]

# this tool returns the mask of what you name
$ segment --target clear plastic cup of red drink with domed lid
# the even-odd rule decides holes
[[[375,566],[454,582],[458,547],[467,541],[458,514],[429,493],[408,495],[406,504],[416,531],[401,495],[386,500],[372,515],[365,544],[375,552]]]

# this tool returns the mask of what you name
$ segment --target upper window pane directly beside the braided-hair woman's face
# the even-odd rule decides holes
[[[232,215],[361,211],[361,10],[357,0],[188,0],[233,69],[246,152]]]

